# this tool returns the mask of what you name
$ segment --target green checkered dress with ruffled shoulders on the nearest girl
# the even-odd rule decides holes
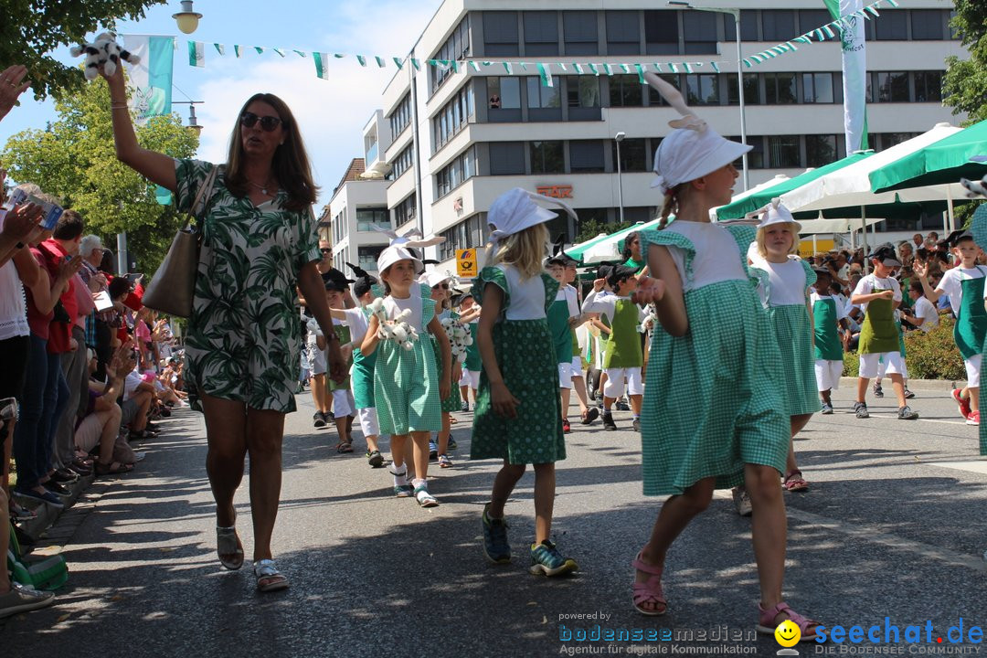
[[[733,235],[746,270],[754,229],[722,230]],[[665,230],[642,231],[641,240],[645,252],[650,245],[680,250],[685,279],[692,280],[697,247],[687,238]],[[736,486],[744,464],[784,472],[789,417],[781,410],[778,350],[755,283],[730,279],[690,290],[686,334],[654,329],[642,415],[645,495],[680,494],[706,477],[715,477],[717,488]]]

